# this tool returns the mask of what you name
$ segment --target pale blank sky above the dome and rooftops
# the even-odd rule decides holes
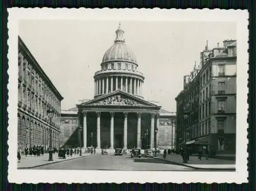
[[[94,73],[114,43],[116,20],[20,20],[19,36],[64,99],[66,110],[94,96]],[[236,39],[235,22],[121,21],[125,43],[145,77],[143,96],[176,111],[183,76],[212,49]]]

